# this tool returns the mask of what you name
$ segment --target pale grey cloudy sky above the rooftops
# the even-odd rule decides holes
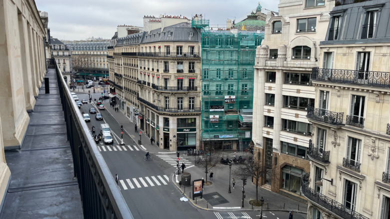
[[[241,17],[257,7],[258,0],[35,0],[38,10],[49,14],[50,35],[65,40],[109,38],[118,25],[142,25],[144,15],[202,14],[211,26],[226,25],[226,19]],[[279,0],[260,1],[277,11]]]

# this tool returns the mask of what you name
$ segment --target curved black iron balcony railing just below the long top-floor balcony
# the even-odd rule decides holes
[[[314,103],[307,106],[306,117],[309,119],[333,124],[341,125],[343,124],[344,112],[332,112],[326,109],[317,109],[314,108]]]

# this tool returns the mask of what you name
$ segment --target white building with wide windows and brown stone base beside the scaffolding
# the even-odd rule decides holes
[[[267,14],[264,40],[256,51],[252,141],[257,161],[267,169],[260,185],[303,203],[300,182],[310,172],[313,134],[306,118],[315,100],[311,73],[319,66],[319,41],[334,4],[280,0],[279,14]]]

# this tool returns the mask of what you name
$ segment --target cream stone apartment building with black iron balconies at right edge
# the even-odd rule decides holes
[[[355,2],[336,1],[312,69],[308,218],[390,218],[390,1]]]

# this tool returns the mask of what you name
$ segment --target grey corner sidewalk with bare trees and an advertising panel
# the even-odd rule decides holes
[[[232,166],[232,172],[234,167]],[[245,186],[245,196],[244,199],[244,208],[242,206],[242,180],[235,179],[236,184],[234,189],[231,185],[231,193],[228,193],[229,189],[229,167],[228,165],[222,165],[221,168],[211,169],[214,173],[214,177],[212,185],[204,186],[203,190],[203,199],[199,197],[196,198],[196,201],[192,201],[190,198],[190,193],[192,191],[192,186],[186,188],[185,196],[198,208],[203,210],[212,210],[212,211],[221,211],[221,210],[229,210],[229,211],[260,211],[261,207],[253,207],[249,205],[249,201],[256,199],[256,185],[251,182],[251,179],[247,179],[247,185]],[[195,166],[189,169],[185,169],[184,172],[191,173],[191,180],[204,178],[206,181],[206,174],[204,173],[204,168],[200,166]],[[207,181],[208,179],[207,174]],[[231,176],[233,178],[234,176]],[[176,180],[174,180],[174,184],[178,187],[178,189],[184,193],[185,188],[182,186],[180,188],[179,181],[181,180],[181,174],[176,175]],[[176,181],[176,182],[175,182]],[[207,194],[208,197],[207,197]],[[191,194],[192,196],[192,194]],[[216,197],[216,198],[214,198]],[[264,206],[263,211],[294,211],[303,214],[307,214],[307,205],[289,199],[285,196],[279,195],[277,193],[268,191],[266,189],[258,187],[258,199],[261,197],[264,198]],[[213,204],[213,206],[210,204]],[[222,203],[222,204],[219,204]]]

